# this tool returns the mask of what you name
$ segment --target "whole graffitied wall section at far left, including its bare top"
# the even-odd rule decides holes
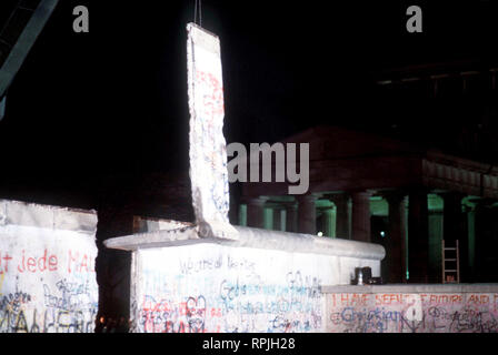
[[[92,333],[97,215],[0,200],[0,333]]]

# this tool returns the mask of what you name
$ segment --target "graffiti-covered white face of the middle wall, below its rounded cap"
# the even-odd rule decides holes
[[[281,252],[240,252],[206,244],[140,254],[141,277],[131,310],[135,332],[301,333],[323,328],[320,284],[331,267],[321,267],[321,275],[316,270],[326,258],[302,254],[302,260],[291,264]]]

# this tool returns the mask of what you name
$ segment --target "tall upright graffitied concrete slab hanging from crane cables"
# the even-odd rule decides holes
[[[229,187],[223,136],[223,81],[219,38],[187,26],[190,179],[197,222],[228,224]]]

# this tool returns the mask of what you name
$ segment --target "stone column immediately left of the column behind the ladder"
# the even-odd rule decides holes
[[[408,272],[409,283],[428,283],[429,213],[427,190],[417,189],[408,200]]]

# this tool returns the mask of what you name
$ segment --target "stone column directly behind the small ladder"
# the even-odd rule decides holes
[[[442,239],[446,246],[450,247],[456,244],[458,240],[459,263],[460,263],[460,282],[464,282],[468,273],[468,234],[467,219],[461,209],[461,200],[464,194],[458,192],[446,192],[439,194],[444,200],[442,207]],[[451,267],[455,263],[448,262],[447,267]],[[451,267],[452,268],[452,267]],[[442,282],[442,275],[439,275],[438,281]]]

